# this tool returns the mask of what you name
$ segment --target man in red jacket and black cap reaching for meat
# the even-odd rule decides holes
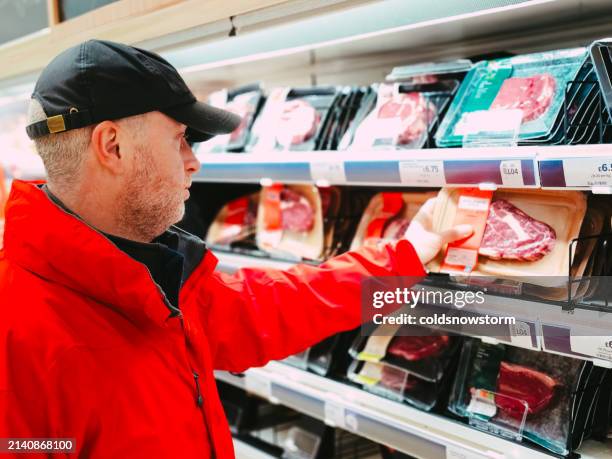
[[[88,41],[42,72],[27,132],[46,185],[15,182],[0,252],[0,438],[72,438],[79,457],[233,457],[213,370],[281,359],[360,317],[366,276],[424,274],[470,228],[288,271],[214,271],[172,225],[200,164],[187,140],[239,119],[161,57]],[[420,257],[420,260],[419,260]]]

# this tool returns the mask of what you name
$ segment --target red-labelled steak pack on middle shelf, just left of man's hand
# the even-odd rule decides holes
[[[374,195],[361,217],[351,249],[403,238],[421,206],[435,196],[434,192],[383,192]]]

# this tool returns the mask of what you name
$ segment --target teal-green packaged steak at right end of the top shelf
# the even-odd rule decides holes
[[[514,131],[508,115],[517,110],[520,145],[597,143],[600,122],[609,122],[600,94],[584,48],[482,61],[465,77],[436,144],[461,146],[468,135],[495,144],[499,132]],[[484,130],[483,112],[489,124]]]

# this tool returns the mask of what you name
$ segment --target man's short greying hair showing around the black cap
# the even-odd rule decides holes
[[[142,138],[141,133],[144,127],[145,115],[131,116],[118,121],[120,123],[130,123],[130,127],[135,131],[134,135]],[[27,124],[46,119],[47,114],[40,102],[36,99],[31,99]],[[47,179],[56,188],[70,189],[70,185],[79,179],[94,128],[95,125],[86,126],[34,139],[36,151],[41,157],[47,172]]]

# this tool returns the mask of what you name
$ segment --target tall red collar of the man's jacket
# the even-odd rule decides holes
[[[6,257],[27,271],[134,319],[163,324],[170,316],[167,300],[142,263],[61,209],[35,183],[13,182],[4,244]],[[201,266],[214,269],[210,262]]]

